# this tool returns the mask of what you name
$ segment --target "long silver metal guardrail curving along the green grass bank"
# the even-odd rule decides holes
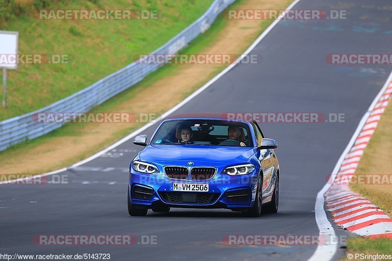
[[[187,28],[173,37],[151,54],[175,54],[200,33],[206,31],[217,16],[235,0],[215,0],[208,10]],[[155,71],[159,64],[132,63],[106,76],[93,85],[55,102],[45,108],[26,113],[0,122],[0,151],[8,147],[42,136],[60,128],[64,123],[36,123],[32,116],[42,112],[86,112],[111,97],[134,86],[148,74]]]

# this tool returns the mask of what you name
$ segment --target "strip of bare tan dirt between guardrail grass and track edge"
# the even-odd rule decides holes
[[[281,9],[288,0],[244,0],[236,9]],[[229,20],[218,33],[217,40],[203,48],[200,53],[240,54],[256,39],[263,21]],[[129,99],[118,103],[110,111],[133,113],[162,113],[184,99],[185,95],[211,79],[211,74],[222,65],[178,65],[175,75],[164,77],[152,84],[127,93]],[[146,97],[150,102],[146,103]],[[13,150],[0,159],[1,174],[37,174],[69,166],[115,142],[119,133],[142,126],[131,124],[84,124],[78,135],[54,137],[37,145]],[[22,164],[21,164],[22,162]]]

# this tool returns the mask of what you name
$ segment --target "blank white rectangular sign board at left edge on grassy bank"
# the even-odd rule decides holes
[[[0,57],[8,57],[9,55],[18,54],[18,32],[11,31],[0,31]],[[0,61],[0,68],[16,69],[18,63],[9,63],[9,59],[3,59],[4,62]]]

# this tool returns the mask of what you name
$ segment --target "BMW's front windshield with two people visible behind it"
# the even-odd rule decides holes
[[[253,147],[253,140],[248,125],[242,122],[186,119],[164,122],[151,144]]]

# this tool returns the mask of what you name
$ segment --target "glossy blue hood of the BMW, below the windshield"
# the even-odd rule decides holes
[[[186,164],[194,162],[194,166],[203,162],[241,164],[256,152],[249,147],[225,147],[205,145],[148,145],[140,152],[140,160],[164,164]]]

